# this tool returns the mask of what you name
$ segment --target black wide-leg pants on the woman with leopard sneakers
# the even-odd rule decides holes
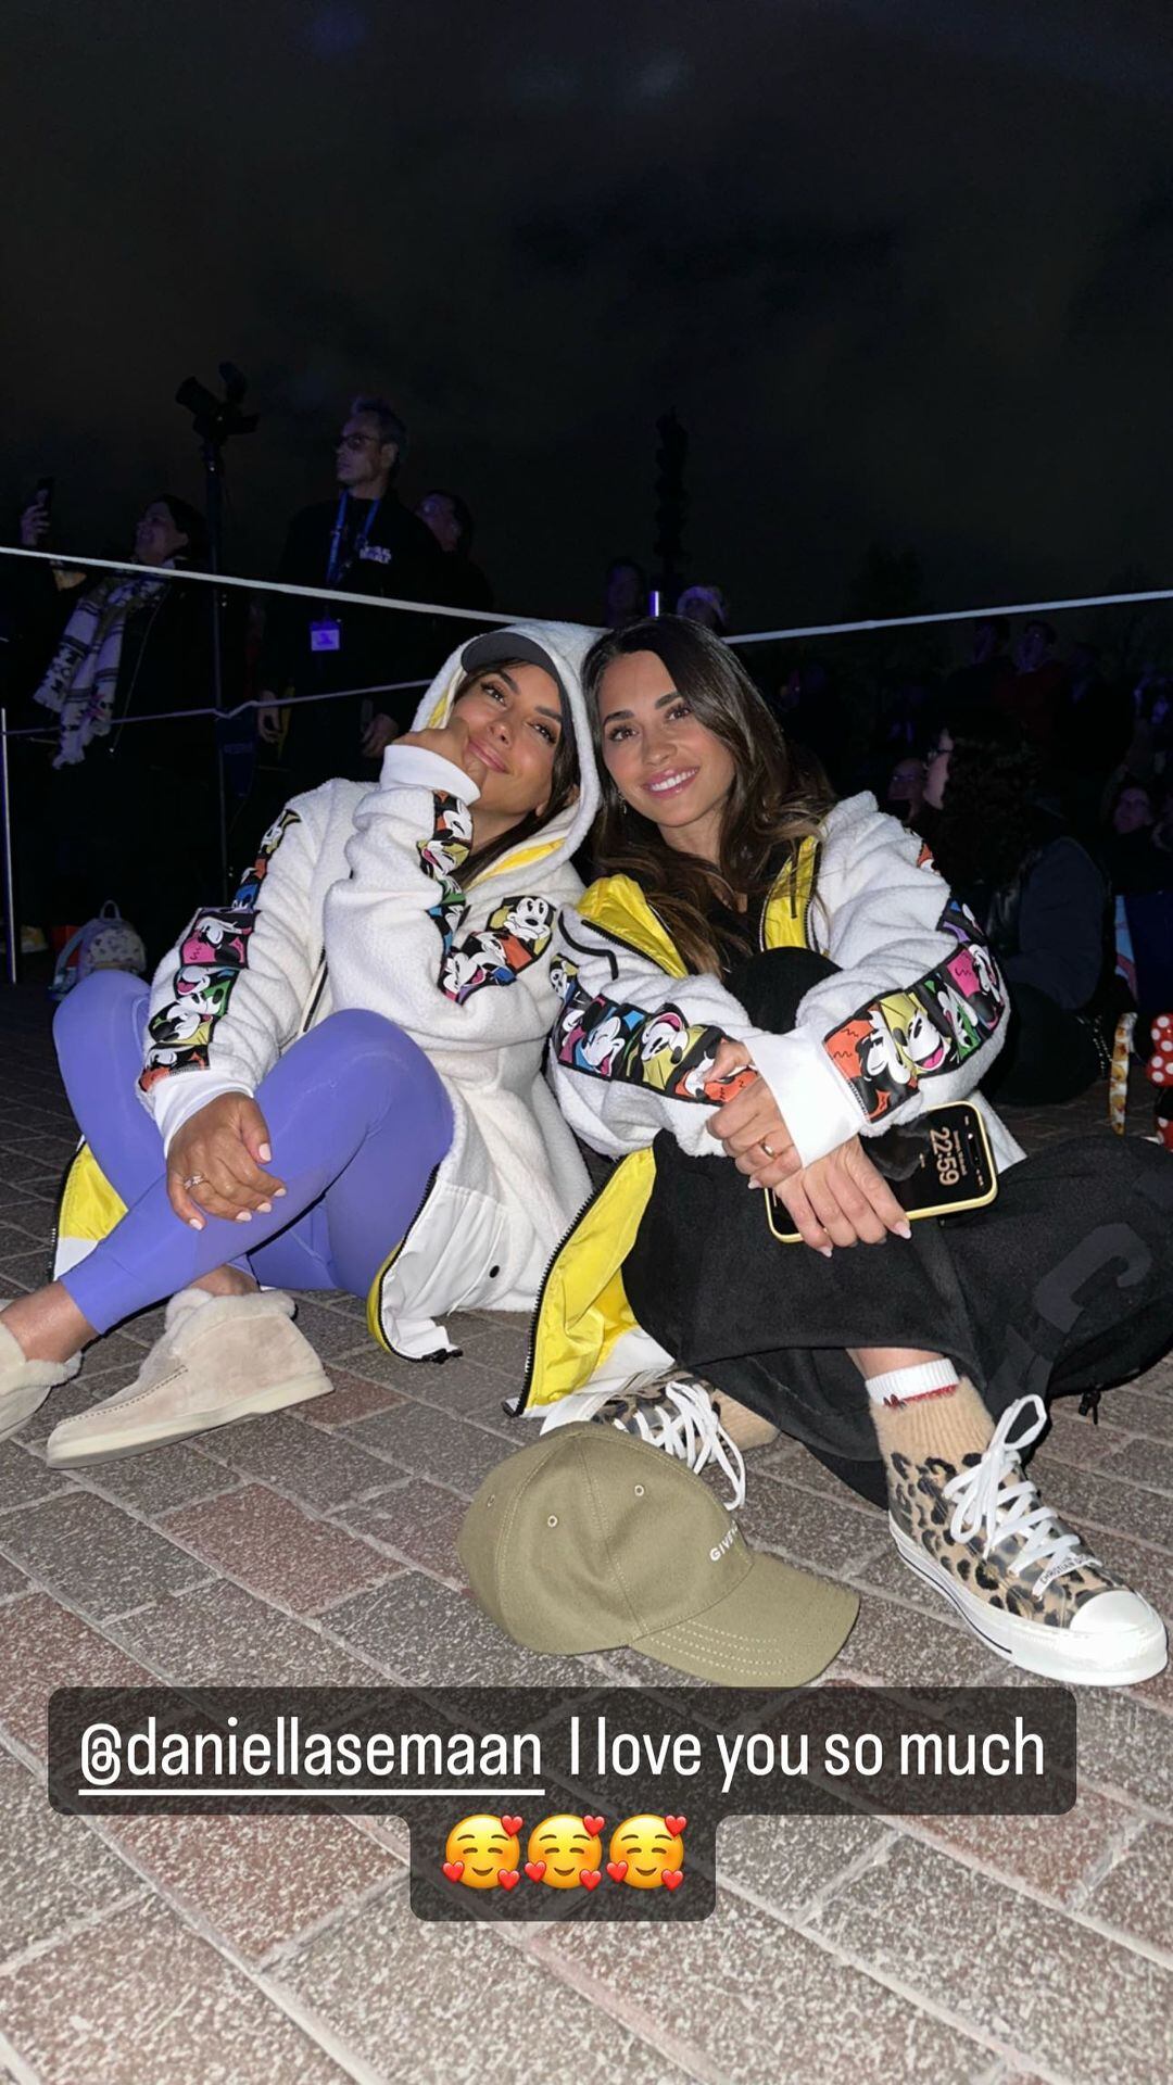
[[[833,965],[776,949],[733,978],[776,1034]],[[875,1149],[875,1147],[872,1147]],[[912,1241],[781,1245],[766,1197],[714,1147],[655,1138],[655,1186],[624,1261],[639,1322],[685,1368],[804,1441],[883,1501],[868,1397],[847,1347],[920,1347],[971,1376],[998,1418],[1127,1382],[1173,1345],[1173,1159],[1077,1136],[1002,1174],[985,1209],[912,1224]]]

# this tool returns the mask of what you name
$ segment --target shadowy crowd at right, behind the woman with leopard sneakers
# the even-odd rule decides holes
[[[822,676],[787,686],[791,730],[814,726],[835,774]],[[1117,1020],[1173,997],[1173,684],[1135,682],[1094,644],[1058,651],[1029,619],[973,630],[971,657],[897,690],[870,749],[881,805],[927,842],[973,909],[1012,990],[987,1090],[1058,1103],[1110,1070]],[[1146,1049],[1148,1017],[1138,1024]]]

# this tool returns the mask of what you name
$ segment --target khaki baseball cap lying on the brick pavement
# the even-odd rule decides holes
[[[685,1464],[597,1422],[557,1426],[493,1470],[459,1557],[486,1614],[530,1651],[628,1645],[724,1687],[801,1687],[860,1601],[749,1549]]]

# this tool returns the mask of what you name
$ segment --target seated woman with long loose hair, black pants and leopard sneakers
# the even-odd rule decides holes
[[[601,874],[561,913],[551,1065],[572,1128],[622,1163],[547,1276],[526,1407],[574,1393],[591,1416],[676,1357],[887,1501],[904,1562],[994,1651],[1148,1678],[1160,1618],[1023,1451],[1044,1391],[1098,1393],[1173,1343],[1169,1155],[1023,1155],[977,1090],[1008,1005],[973,915],[870,794],[831,803],[804,774],[726,644],[643,621],[595,644],[584,684]],[[891,1176],[956,1101],[998,1195],[910,1224]]]

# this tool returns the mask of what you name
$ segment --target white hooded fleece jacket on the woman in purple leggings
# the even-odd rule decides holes
[[[470,851],[476,784],[436,753],[390,744],[378,788],[326,782],[294,796],[234,903],[196,913],[150,995],[140,1093],[165,1145],[215,1095],[255,1093],[336,1009],[384,1013],[428,1053],[455,1132],[378,1305],[388,1345],[411,1357],[451,1351],[434,1322],[447,1311],[530,1309],[589,1191],[543,1049],[557,1013],[553,928],[582,888],[572,855],[597,801],[578,680],[591,632],[518,628],[566,688],[578,801],[465,892],[451,872]],[[463,651],[424,696],[417,730],[447,719]]]

